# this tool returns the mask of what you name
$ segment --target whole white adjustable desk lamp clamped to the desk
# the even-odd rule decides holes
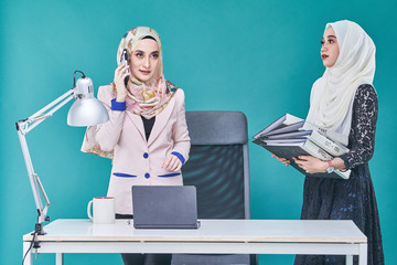
[[[77,80],[76,73],[81,73],[82,77]],[[31,131],[39,124],[44,121],[47,117],[52,116],[56,110],[63,107],[66,103],[73,98],[76,102],[72,105],[67,114],[67,125],[69,126],[90,126],[104,124],[109,119],[108,113],[105,106],[94,97],[93,81],[84,75],[81,71],[74,72],[73,88],[33,114],[26,119],[21,119],[15,123],[18,136],[21,142],[23,158],[26,163],[29,180],[32,187],[34,201],[37,209],[37,222],[35,224],[34,234],[43,235],[43,222],[50,221],[47,216],[47,210],[50,206],[50,200],[44,191],[44,188],[40,181],[39,176],[34,172],[32,160],[29,153],[25,135]],[[43,206],[40,190],[45,199],[45,206]]]

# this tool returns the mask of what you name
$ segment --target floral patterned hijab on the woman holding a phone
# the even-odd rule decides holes
[[[163,75],[162,49],[159,34],[148,26],[129,30],[120,41],[117,51],[117,63],[120,65],[121,54],[125,49],[131,59],[138,42],[146,36],[153,38],[159,45],[159,64],[153,77],[146,83],[130,75],[127,84],[128,97],[126,102],[129,112],[150,119],[164,109],[176,91],[175,87],[172,87],[173,89],[168,88],[169,83]]]

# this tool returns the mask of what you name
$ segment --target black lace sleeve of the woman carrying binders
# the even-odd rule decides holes
[[[346,169],[366,163],[373,157],[377,112],[375,88],[368,84],[358,86],[353,103],[352,129],[348,136],[350,152],[340,157]]]

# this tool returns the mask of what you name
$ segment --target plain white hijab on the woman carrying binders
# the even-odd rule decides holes
[[[340,54],[313,84],[307,123],[341,134],[340,141],[347,145],[355,92],[374,80],[375,44],[352,21],[328,23],[325,30],[330,26],[335,31]]]

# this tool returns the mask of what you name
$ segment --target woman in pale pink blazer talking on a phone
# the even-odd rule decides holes
[[[99,87],[109,121],[87,129],[82,150],[112,158],[108,197],[116,218],[132,218],[132,186],[182,186],[181,167],[190,137],[184,93],[167,81],[158,33],[128,31],[118,53],[114,83]],[[171,255],[122,254],[125,264],[170,264]]]

